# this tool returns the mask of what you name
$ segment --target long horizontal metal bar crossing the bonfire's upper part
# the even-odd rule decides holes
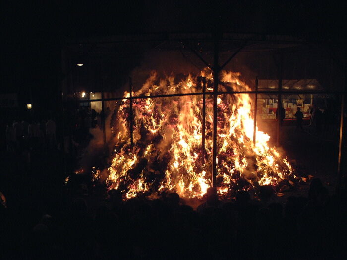
[[[283,95],[286,94],[347,94],[347,91],[219,91],[217,95],[223,94],[278,94],[281,93]],[[134,96],[131,99],[151,99],[151,98],[167,98],[167,97],[180,97],[180,96],[194,96],[194,95],[203,95],[203,92],[195,92],[195,93],[176,93],[176,94],[166,94],[166,95],[151,95],[151,96]],[[206,95],[213,95],[213,92],[206,92]],[[86,99],[79,100],[78,102],[96,102],[96,101],[113,101],[113,100],[125,100],[130,99],[130,97],[123,98],[107,98],[107,99]]]

